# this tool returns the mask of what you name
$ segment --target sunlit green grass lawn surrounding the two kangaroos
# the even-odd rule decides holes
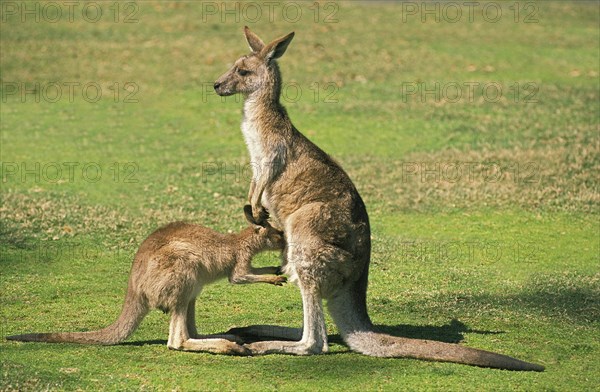
[[[137,246],[159,225],[246,224],[241,101],[223,101],[210,84],[245,53],[241,31],[250,24],[264,39],[296,31],[280,65],[302,95],[284,103],[365,199],[373,321],[546,372],[369,358],[336,339],[331,354],[308,358],[173,352],[168,316],[152,312],[114,347],[2,339],[0,390],[600,387],[598,4],[532,3],[538,23],[514,23],[508,3],[497,23],[480,13],[469,22],[466,9],[459,23],[403,22],[392,2],[339,3],[336,23],[323,22],[331,9],[322,3],[314,23],[302,4],[297,23],[281,13],[273,23],[266,14],[255,24],[222,23],[203,19],[194,2],[140,2],[138,23],[114,23],[107,8],[98,23],[80,12],[72,23],[2,14],[0,336],[107,325]],[[10,94],[14,83],[51,82],[98,83],[103,98],[86,102],[80,89],[73,102]],[[137,103],[123,102],[127,82],[138,87]],[[406,92],[475,82],[473,99],[463,92],[456,102]],[[502,87],[497,101],[481,90],[490,83]],[[523,86],[536,89],[535,102],[525,102],[532,90]],[[72,178],[68,162],[77,164]],[[36,163],[39,179],[22,178],[22,165],[36,171]],[[229,172],[206,171],[215,164]],[[443,171],[452,167],[458,177]],[[256,260],[276,262],[275,254]],[[200,295],[197,313],[206,333],[302,320],[291,285],[220,282]],[[337,333],[329,318],[328,328]]]

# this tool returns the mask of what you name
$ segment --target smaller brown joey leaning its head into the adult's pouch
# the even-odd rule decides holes
[[[125,304],[113,324],[98,331],[33,333],[8,340],[49,343],[116,344],[137,328],[150,309],[171,313],[168,347],[175,350],[248,354],[233,335],[201,336],[196,331],[195,303],[202,287],[228,276],[235,284],[286,281],[278,267],[252,268],[252,257],[281,250],[283,233],[270,225],[248,227],[238,234],[220,234],[184,222],[170,223],[152,233],[135,255]]]

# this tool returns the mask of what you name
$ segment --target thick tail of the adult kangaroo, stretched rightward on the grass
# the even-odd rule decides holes
[[[328,308],[348,346],[361,354],[415,358],[506,370],[544,371],[544,367],[489,351],[432,340],[408,339],[375,332],[367,314],[366,279],[328,300]]]

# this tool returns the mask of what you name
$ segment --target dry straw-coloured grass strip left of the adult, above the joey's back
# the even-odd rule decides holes
[[[168,196],[168,202],[147,200],[134,211],[90,205],[79,196],[37,188],[27,192],[6,190],[0,194],[0,239],[25,248],[37,241],[88,236],[95,243],[112,248],[140,244],[150,232],[174,221],[183,220],[230,232],[246,225],[241,198],[218,193],[208,197],[210,204],[204,200],[192,201],[187,192],[173,193]],[[239,214],[233,212],[238,210]]]

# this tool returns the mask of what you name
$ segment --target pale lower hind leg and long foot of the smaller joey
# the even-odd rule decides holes
[[[173,310],[169,325],[169,341],[167,346],[172,350],[203,351],[214,354],[248,355],[244,346],[223,338],[190,338],[187,325],[189,306]]]

